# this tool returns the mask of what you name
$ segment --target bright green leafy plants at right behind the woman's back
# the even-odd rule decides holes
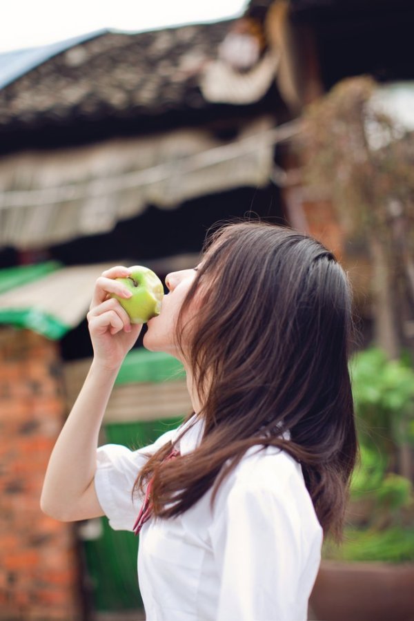
[[[413,483],[393,472],[400,442],[414,439],[411,360],[405,356],[402,361],[389,361],[382,350],[370,347],[353,357],[351,374],[360,445],[359,464],[351,479],[351,504],[359,506],[363,517],[348,524],[342,546],[326,540],[324,557],[414,561]]]

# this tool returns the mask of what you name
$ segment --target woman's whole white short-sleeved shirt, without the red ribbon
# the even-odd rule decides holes
[[[95,488],[115,530],[132,531],[137,472],[179,430],[131,451],[97,451]],[[189,426],[182,455],[201,439]],[[249,449],[219,488],[173,519],[150,518],[139,535],[138,576],[147,621],[304,621],[319,569],[322,528],[302,469],[286,452]]]

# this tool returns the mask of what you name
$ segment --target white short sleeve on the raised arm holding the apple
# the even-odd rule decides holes
[[[132,500],[132,488],[139,470],[146,464],[148,455],[174,440],[176,435],[177,430],[168,431],[155,443],[139,450],[130,450],[120,444],[105,444],[97,449],[95,490],[115,531],[132,531],[142,501],[139,497]]]

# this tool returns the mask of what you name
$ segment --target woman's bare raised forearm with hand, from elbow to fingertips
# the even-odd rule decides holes
[[[99,429],[119,367],[142,327],[131,325],[119,302],[108,295],[129,296],[115,280],[126,274],[127,268],[115,267],[97,280],[88,312],[94,359],[46,470],[41,509],[65,522],[103,515],[94,486]]]

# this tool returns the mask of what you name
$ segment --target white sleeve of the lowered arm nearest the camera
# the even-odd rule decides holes
[[[221,575],[217,621],[306,619],[300,518],[288,494],[236,484],[210,536]]]

